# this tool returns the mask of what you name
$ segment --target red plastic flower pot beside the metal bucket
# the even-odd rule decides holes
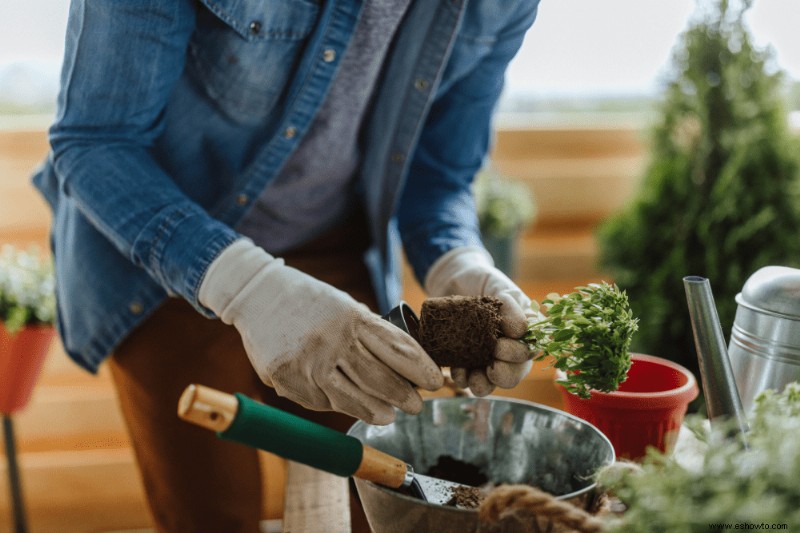
[[[679,364],[651,355],[631,358],[628,379],[615,392],[592,391],[591,398],[582,400],[558,388],[567,412],[602,431],[618,458],[636,460],[651,446],[662,452],[672,449],[698,388],[692,373]]]

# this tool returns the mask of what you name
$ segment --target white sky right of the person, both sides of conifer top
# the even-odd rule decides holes
[[[695,0],[542,0],[509,67],[510,92],[652,93],[695,11]],[[800,80],[800,0],[756,0],[755,44]]]

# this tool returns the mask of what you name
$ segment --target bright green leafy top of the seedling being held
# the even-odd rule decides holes
[[[532,307],[546,316],[529,325],[524,340],[542,351],[537,360],[552,358],[553,366],[566,373],[558,383],[569,392],[588,398],[592,389],[614,391],[625,381],[638,329],[625,292],[592,283],[563,296],[550,294]]]

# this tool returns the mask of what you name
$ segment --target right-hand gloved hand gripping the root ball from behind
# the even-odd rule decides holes
[[[451,368],[450,375],[456,385],[469,387],[476,396],[491,394],[495,386],[511,388],[517,385],[533,365],[535,355],[519,340],[526,332],[528,317],[534,315],[531,300],[495,268],[489,252],[482,248],[462,247],[450,250],[436,260],[424,282],[431,297],[440,296],[494,296],[503,306],[500,337],[495,348],[495,360],[486,369],[467,372],[464,368]]]

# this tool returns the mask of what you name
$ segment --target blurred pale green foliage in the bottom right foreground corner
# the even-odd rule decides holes
[[[652,452],[641,469],[610,467],[599,484],[627,506],[609,532],[707,532],[709,524],[800,527],[800,385],[762,394],[745,448],[723,426],[706,433],[697,464]],[[742,528],[744,529],[744,528]],[[752,528],[756,529],[756,528]]]

